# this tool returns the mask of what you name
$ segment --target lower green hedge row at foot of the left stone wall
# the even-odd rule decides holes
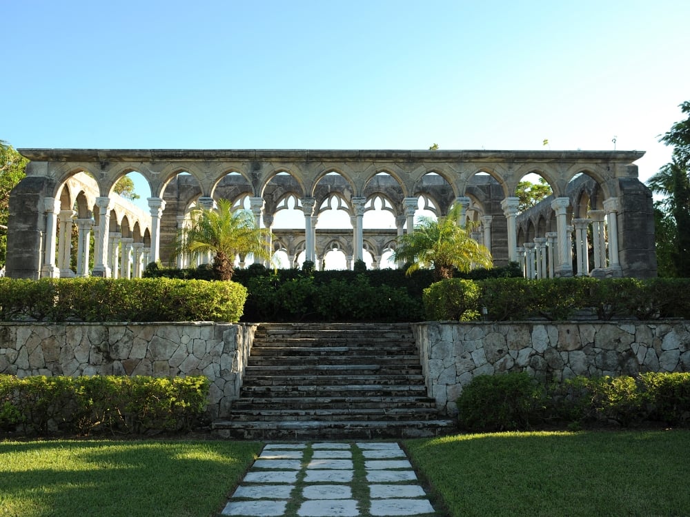
[[[0,431],[27,436],[192,429],[208,401],[208,379],[0,374]]]

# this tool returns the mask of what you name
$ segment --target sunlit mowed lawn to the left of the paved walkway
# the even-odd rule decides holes
[[[215,515],[255,442],[0,442],[0,517]]]

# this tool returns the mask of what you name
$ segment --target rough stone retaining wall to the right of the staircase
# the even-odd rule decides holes
[[[451,415],[462,387],[481,374],[562,380],[690,371],[690,321],[427,322],[413,330],[428,395]]]

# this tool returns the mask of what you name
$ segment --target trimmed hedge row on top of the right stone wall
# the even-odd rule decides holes
[[[489,278],[449,280],[424,290],[428,319],[566,320],[591,310],[611,318],[690,318],[690,278]]]

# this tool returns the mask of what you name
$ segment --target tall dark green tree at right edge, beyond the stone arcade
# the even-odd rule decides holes
[[[672,159],[647,185],[664,198],[655,202],[656,252],[660,274],[690,277],[690,101],[680,105],[688,118],[674,123],[660,141],[673,146]]]

